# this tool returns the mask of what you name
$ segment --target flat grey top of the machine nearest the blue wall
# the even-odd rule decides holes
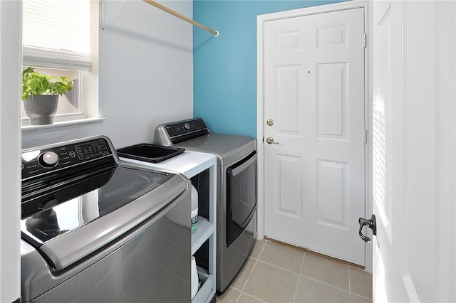
[[[257,148],[257,140],[235,134],[206,134],[175,144],[190,151],[205,152],[217,156],[217,166],[232,164]]]

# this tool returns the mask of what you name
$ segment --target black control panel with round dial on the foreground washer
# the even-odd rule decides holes
[[[61,146],[26,149],[22,151],[22,180],[47,174],[88,161],[111,156],[113,152],[104,138]]]

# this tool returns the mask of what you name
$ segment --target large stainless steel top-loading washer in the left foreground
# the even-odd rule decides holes
[[[107,137],[22,151],[22,302],[190,302],[190,180]]]

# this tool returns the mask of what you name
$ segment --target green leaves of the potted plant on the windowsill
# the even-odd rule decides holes
[[[63,95],[71,91],[73,81],[67,77],[57,77],[41,75],[34,71],[34,68],[26,68],[22,72],[22,100],[26,100],[29,95]]]

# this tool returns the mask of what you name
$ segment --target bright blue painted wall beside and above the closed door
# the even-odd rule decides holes
[[[212,132],[257,137],[257,15],[341,0],[194,0],[193,115]]]

